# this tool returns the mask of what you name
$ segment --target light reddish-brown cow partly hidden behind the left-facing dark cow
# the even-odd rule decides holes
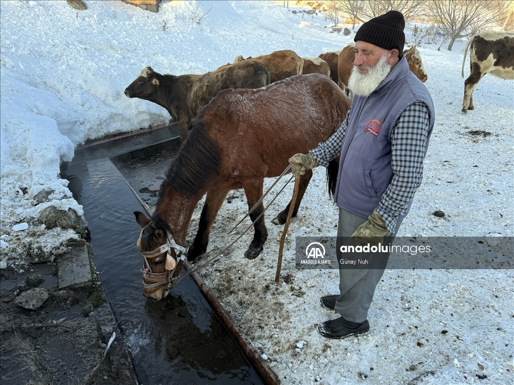
[[[253,60],[264,64],[271,73],[271,83],[303,73],[303,59],[298,56],[295,51],[291,51],[290,49],[274,51],[268,55],[257,57],[250,56],[246,59],[243,59],[242,55],[238,55],[234,60],[234,64],[244,60]],[[219,67],[217,70],[227,66],[230,66],[230,63]]]

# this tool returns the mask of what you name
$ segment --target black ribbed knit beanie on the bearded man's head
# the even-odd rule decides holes
[[[389,11],[383,15],[372,18],[362,24],[355,34],[354,41],[371,43],[383,49],[397,49],[401,57],[405,45],[405,20],[398,11]]]

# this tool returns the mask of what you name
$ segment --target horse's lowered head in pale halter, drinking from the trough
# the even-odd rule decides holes
[[[160,300],[168,295],[171,279],[183,266],[178,260],[185,249],[175,243],[168,229],[156,225],[140,211],[135,211],[136,222],[142,227],[137,247],[144,257],[143,295]]]

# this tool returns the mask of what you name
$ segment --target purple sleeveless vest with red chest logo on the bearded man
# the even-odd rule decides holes
[[[354,98],[334,194],[339,207],[361,218],[373,213],[393,178],[391,131],[400,114],[414,102],[424,102],[429,108],[428,148],[434,105],[427,87],[409,70],[405,56],[369,97]],[[411,204],[400,218],[407,215]]]

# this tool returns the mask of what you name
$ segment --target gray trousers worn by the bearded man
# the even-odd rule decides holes
[[[366,219],[357,217],[356,215],[348,213],[343,209],[339,209],[339,225],[337,227],[338,240],[344,240],[345,244],[356,245],[354,238],[350,237],[357,227],[364,223]],[[396,224],[394,234],[384,238],[383,244],[392,243],[398,228],[400,227],[401,220]],[[346,237],[346,238],[340,238]],[[339,250],[339,244],[338,244]],[[341,258],[341,254],[338,253],[338,260]],[[356,258],[367,259],[373,263],[374,259],[380,258],[382,261],[381,266],[385,266],[389,260],[389,253],[362,253]],[[386,259],[387,258],[387,259]],[[345,320],[352,322],[363,322],[368,318],[368,310],[370,309],[371,301],[373,300],[373,294],[377,283],[382,278],[384,268],[380,269],[347,269],[341,268],[343,265],[339,265],[339,290],[341,294],[336,301],[336,312],[338,312]]]

